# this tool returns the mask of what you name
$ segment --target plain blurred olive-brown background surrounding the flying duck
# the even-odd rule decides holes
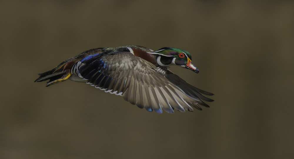
[[[0,158],[293,158],[293,1],[1,1]],[[37,73],[95,47],[170,46],[211,108],[149,113]]]

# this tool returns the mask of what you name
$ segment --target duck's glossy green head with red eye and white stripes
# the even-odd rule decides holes
[[[188,51],[179,48],[164,47],[148,53],[156,55],[156,62],[160,66],[178,65],[196,73],[199,72],[199,69],[193,65],[192,56]]]

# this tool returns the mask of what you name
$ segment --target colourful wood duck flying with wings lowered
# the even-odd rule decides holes
[[[71,80],[86,82],[147,111],[174,113],[209,107],[204,96],[213,93],[198,89],[168,69],[177,65],[198,73],[188,51],[164,47],[153,51],[143,46],[94,48],[69,58],[50,71],[40,73],[35,82],[46,86]]]

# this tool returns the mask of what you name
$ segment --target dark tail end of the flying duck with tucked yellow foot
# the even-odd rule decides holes
[[[44,73],[39,73],[39,78],[35,80],[35,82],[47,81],[46,87],[51,86],[56,83],[60,83],[66,81],[71,77],[71,68],[75,64],[75,60],[68,59],[58,66],[53,68],[50,71],[46,71]]]

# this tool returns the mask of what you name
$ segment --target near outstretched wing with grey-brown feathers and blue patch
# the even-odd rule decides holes
[[[165,76],[165,71],[130,52],[90,55],[77,65],[78,76],[105,92],[121,95],[147,111],[173,113],[201,109],[202,101],[187,94]]]

